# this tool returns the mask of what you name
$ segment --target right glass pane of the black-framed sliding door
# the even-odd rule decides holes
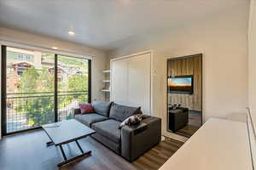
[[[89,101],[89,60],[58,55],[58,121],[73,117],[73,108]]]

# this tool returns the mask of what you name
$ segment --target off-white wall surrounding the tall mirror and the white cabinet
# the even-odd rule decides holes
[[[122,48],[108,52],[119,57],[154,50],[153,114],[163,119],[166,132],[166,59],[203,54],[203,116],[246,113],[248,4],[215,14],[193,26],[131,37]]]

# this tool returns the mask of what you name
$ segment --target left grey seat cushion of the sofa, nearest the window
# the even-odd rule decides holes
[[[89,113],[84,115],[76,115],[75,119],[84,123],[87,127],[91,127],[92,123],[105,121],[108,119],[108,117],[101,116],[96,113]]]

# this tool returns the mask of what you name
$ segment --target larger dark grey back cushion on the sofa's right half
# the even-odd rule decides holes
[[[109,118],[119,122],[124,122],[130,116],[141,114],[141,107],[130,107],[113,103],[111,105]]]

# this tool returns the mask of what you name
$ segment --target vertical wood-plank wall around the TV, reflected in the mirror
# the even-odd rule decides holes
[[[202,54],[168,59],[167,76],[194,75],[193,94],[168,94],[168,104],[178,103],[189,110],[202,111]]]

